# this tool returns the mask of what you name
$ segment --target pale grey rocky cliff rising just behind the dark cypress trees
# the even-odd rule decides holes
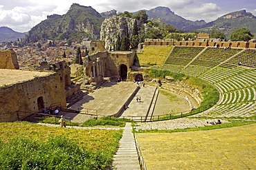
[[[100,30],[100,40],[105,42],[105,48],[109,50],[110,47],[112,47],[113,49],[113,45],[116,43],[118,35],[121,39],[124,36],[131,36],[135,23],[137,23],[138,34],[143,34],[148,30],[147,24],[129,17],[114,15],[104,19]]]

